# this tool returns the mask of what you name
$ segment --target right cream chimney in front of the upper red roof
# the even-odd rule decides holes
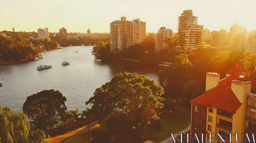
[[[241,103],[247,103],[247,95],[250,95],[251,93],[251,81],[243,81],[245,77],[240,76],[235,80],[231,81],[231,89],[236,95],[236,98],[239,100]],[[242,80],[239,80],[242,79]]]

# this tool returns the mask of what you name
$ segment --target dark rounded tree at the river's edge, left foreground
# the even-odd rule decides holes
[[[67,110],[66,101],[67,98],[59,90],[43,90],[28,96],[22,109],[38,129],[45,130],[59,124],[59,118]]]

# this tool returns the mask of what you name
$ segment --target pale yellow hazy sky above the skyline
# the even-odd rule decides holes
[[[192,9],[198,24],[211,31],[235,23],[256,28],[256,0],[0,0],[0,31],[109,32],[109,22],[125,16],[140,18],[146,30],[157,32],[165,26],[176,32],[177,19]]]

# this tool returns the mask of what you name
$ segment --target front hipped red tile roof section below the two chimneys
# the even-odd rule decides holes
[[[242,105],[242,103],[240,103],[236,98],[231,87],[227,87],[227,85],[218,85],[214,88],[206,91],[204,94],[190,102],[221,109],[230,113],[236,113],[236,110]]]

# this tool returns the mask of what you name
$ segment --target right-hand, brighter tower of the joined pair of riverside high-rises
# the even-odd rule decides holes
[[[146,22],[142,22],[140,19],[135,19],[126,24],[126,48],[135,44],[140,44],[145,37]]]

